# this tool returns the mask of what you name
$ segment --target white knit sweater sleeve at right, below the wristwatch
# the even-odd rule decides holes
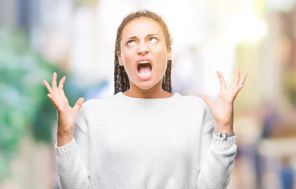
[[[234,167],[236,136],[223,140],[215,136],[215,124],[207,106],[202,125],[198,189],[226,189]]]

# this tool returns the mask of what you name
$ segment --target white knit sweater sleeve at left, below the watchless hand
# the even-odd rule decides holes
[[[77,118],[79,116],[81,115],[78,113]],[[79,126],[78,122],[74,125],[72,142],[62,147],[55,145],[56,168],[61,189],[89,188],[88,147],[87,132]]]

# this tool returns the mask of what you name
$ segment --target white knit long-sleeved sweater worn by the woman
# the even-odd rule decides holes
[[[57,147],[61,189],[225,189],[236,137],[214,135],[209,107],[175,93],[140,99],[122,92],[85,102],[74,138]]]

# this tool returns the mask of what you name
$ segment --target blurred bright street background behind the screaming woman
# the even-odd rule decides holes
[[[0,0],[0,189],[58,189],[56,110],[42,80],[67,76],[71,106],[113,95],[117,27],[161,14],[174,38],[172,86],[235,101],[238,151],[228,189],[296,189],[296,0]]]

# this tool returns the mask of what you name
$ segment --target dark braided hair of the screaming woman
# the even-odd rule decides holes
[[[146,17],[150,18],[156,23],[159,24],[159,26],[162,29],[162,32],[165,37],[165,42],[166,42],[166,47],[167,49],[171,46],[172,44],[172,38],[169,34],[168,27],[164,20],[158,16],[157,14],[148,11],[148,10],[142,10],[134,13],[130,13],[127,15],[121,24],[119,25],[117,29],[117,35],[116,35],[116,40],[115,40],[115,52],[114,52],[114,95],[118,92],[125,92],[130,88],[130,82],[128,79],[128,76],[126,74],[126,71],[123,66],[119,65],[118,61],[118,56],[117,52],[120,51],[120,40],[121,40],[121,33],[127,23],[130,21],[136,19],[136,18],[141,18],[141,17]],[[163,76],[162,79],[162,84],[161,87],[163,90],[172,93],[172,83],[171,83],[171,70],[172,70],[172,61],[168,60],[167,62],[167,69],[165,72],[165,75]]]

